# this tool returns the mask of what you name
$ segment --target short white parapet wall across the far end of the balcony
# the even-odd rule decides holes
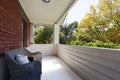
[[[42,56],[53,56],[55,53],[55,45],[54,44],[32,44],[27,49],[31,52],[41,52]]]

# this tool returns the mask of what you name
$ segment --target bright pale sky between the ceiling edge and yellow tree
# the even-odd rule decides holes
[[[80,22],[85,14],[89,11],[91,5],[97,5],[99,0],[78,0],[78,2],[69,11],[65,23],[72,23],[74,21]]]

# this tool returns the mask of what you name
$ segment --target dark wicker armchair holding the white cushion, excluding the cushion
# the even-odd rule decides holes
[[[21,52],[30,55],[30,52],[24,48],[5,52],[10,80],[41,80],[41,61],[31,61],[20,65],[15,61],[15,55],[21,54]]]

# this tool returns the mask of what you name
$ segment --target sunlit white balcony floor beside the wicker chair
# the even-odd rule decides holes
[[[62,60],[48,56],[42,59],[41,80],[82,80]]]

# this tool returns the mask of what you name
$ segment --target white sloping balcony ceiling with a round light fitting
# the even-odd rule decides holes
[[[62,24],[77,0],[19,0],[31,23],[39,25]]]

